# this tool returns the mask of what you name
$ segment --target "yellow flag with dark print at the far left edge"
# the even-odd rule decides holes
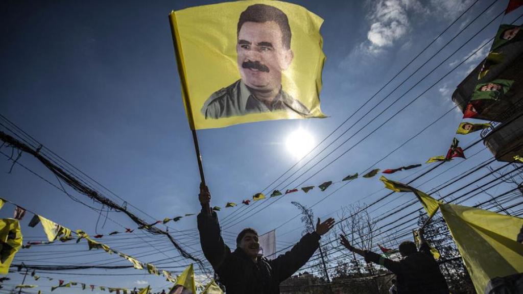
[[[0,219],[0,274],[7,275],[15,254],[22,246],[20,223],[15,219]]]

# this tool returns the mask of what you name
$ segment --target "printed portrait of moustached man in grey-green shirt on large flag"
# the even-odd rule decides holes
[[[214,92],[201,108],[206,119],[271,111],[292,111],[310,117],[310,110],[283,91],[282,71],[290,66],[291,29],[280,9],[254,4],[237,25],[237,64],[241,79]]]

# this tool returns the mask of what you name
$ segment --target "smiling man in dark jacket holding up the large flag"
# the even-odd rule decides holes
[[[198,231],[203,255],[212,265],[228,294],[278,294],[280,283],[300,269],[320,245],[320,236],[334,225],[334,219],[320,223],[316,230],[304,235],[292,249],[276,259],[258,256],[258,233],[252,228],[243,229],[236,238],[236,250],[231,251],[221,237],[220,224],[210,208],[211,194],[207,186],[200,185],[199,200],[202,211],[198,214]]]

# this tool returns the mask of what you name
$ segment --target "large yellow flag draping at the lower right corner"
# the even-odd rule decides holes
[[[517,236],[523,219],[453,204],[440,208],[476,292],[489,293],[512,275],[519,274],[521,280],[523,244]]]

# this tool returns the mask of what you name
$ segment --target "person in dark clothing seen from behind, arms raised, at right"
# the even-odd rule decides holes
[[[405,241],[400,244],[399,251],[403,256],[401,261],[392,261],[377,253],[361,250],[351,246],[344,235],[340,235],[340,243],[348,250],[365,257],[366,262],[382,265],[396,275],[398,294],[449,294],[449,287],[439,266],[430,253],[430,247],[423,238],[423,229],[419,229],[421,244],[419,251],[413,242]]]

